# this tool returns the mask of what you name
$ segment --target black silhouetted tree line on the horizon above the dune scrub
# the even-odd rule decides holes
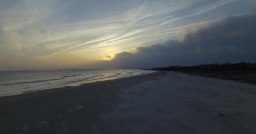
[[[256,63],[225,63],[225,64],[201,64],[198,66],[188,66],[188,67],[179,67],[179,66],[170,66],[170,67],[161,67],[161,68],[153,68],[152,70],[163,70],[163,71],[190,71],[190,70],[208,70],[208,71],[216,71],[216,70],[245,70],[245,71],[256,71]]]

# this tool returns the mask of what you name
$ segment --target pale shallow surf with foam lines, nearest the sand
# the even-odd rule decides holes
[[[135,75],[142,75],[145,73],[151,73],[149,70],[120,70],[118,73],[107,73],[100,75],[70,75],[48,79],[36,79],[36,80],[19,80],[19,81],[4,81],[0,82],[0,97],[13,95],[17,93],[33,92],[36,90],[43,90],[48,88],[54,88],[59,86],[65,86],[77,82],[90,82],[93,80],[104,80],[108,78],[121,78],[130,77]]]

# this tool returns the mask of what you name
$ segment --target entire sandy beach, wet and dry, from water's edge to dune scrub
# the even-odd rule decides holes
[[[157,72],[0,98],[0,134],[256,134],[256,85]]]

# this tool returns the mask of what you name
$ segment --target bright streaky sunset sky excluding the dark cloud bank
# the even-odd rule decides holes
[[[140,46],[182,41],[255,0],[1,0],[0,70],[89,68]],[[91,67],[91,66],[90,66]],[[102,67],[103,68],[103,67]]]

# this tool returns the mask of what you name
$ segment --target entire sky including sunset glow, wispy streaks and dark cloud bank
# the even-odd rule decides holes
[[[256,0],[1,0],[0,70],[256,62]]]

